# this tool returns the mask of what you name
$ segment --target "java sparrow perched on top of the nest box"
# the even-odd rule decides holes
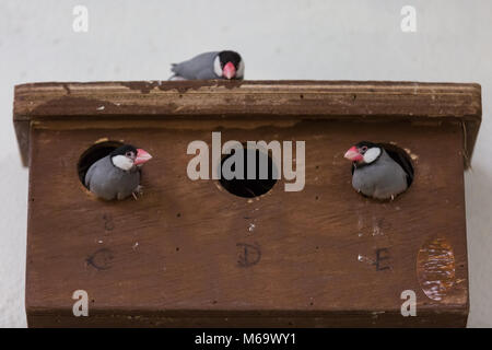
[[[200,54],[187,61],[174,63],[169,80],[243,79],[244,61],[235,51]]]

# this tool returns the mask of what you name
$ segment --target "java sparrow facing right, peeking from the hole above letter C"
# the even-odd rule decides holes
[[[122,200],[140,191],[140,166],[152,156],[130,144],[121,145],[91,165],[85,186],[97,197]]]

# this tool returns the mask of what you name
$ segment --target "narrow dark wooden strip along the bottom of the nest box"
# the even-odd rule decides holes
[[[237,315],[229,313],[227,315],[207,313],[206,316],[194,317],[169,317],[166,313],[142,313],[121,315],[117,311],[110,313],[110,323],[108,323],[109,313],[94,313],[91,322],[81,320],[73,317],[68,312],[58,314],[47,314],[46,312],[33,313],[30,316],[30,327],[91,327],[91,328],[155,328],[155,327],[186,327],[186,328],[213,328],[221,325],[222,328],[243,327],[243,328],[350,328],[350,327],[440,327],[440,328],[459,328],[466,324],[466,316],[462,311],[457,311],[455,317],[449,317],[450,311],[444,314],[423,312],[419,318],[421,323],[403,318],[396,313],[374,313],[368,320],[366,314],[331,313],[329,323],[327,323],[327,313],[306,313],[304,317],[293,317],[292,314],[284,316],[262,317],[260,323],[257,317]],[[461,317],[461,323],[456,323],[456,318]]]

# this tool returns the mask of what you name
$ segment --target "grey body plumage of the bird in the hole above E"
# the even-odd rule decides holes
[[[352,186],[365,196],[389,199],[408,188],[408,175],[384,149],[379,158],[371,164],[354,168]]]

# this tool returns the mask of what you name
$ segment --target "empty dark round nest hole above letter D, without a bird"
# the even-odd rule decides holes
[[[221,168],[223,168],[223,164],[224,162],[230,159],[233,154],[234,154],[235,150],[231,151],[231,154],[227,154],[225,156],[222,158],[221,161]],[[255,155],[253,155],[251,153],[256,153]],[[256,149],[248,149],[248,148],[244,148],[243,149],[243,159],[244,159],[244,175],[243,175],[243,179],[241,178],[232,178],[232,179],[226,179],[224,178],[224,176],[221,176],[221,179],[219,180],[219,183],[221,184],[221,186],[223,188],[225,188],[229,192],[238,196],[238,197],[244,197],[244,198],[253,198],[253,197],[258,197],[261,195],[265,195],[266,192],[268,192],[277,183],[277,179],[274,178],[273,174],[278,174],[277,173],[277,166],[273,164],[273,161],[270,156],[270,154],[268,154],[268,177],[266,179],[261,179],[259,176],[259,167],[260,167],[260,153],[261,156],[265,156],[266,154],[263,152],[260,152],[259,150]],[[256,161],[256,176],[255,179],[248,179],[247,177],[247,173],[248,173],[248,154],[250,158],[255,158]],[[235,171],[235,164],[231,166],[231,170],[234,172]],[[222,173],[221,173],[222,174]]]

